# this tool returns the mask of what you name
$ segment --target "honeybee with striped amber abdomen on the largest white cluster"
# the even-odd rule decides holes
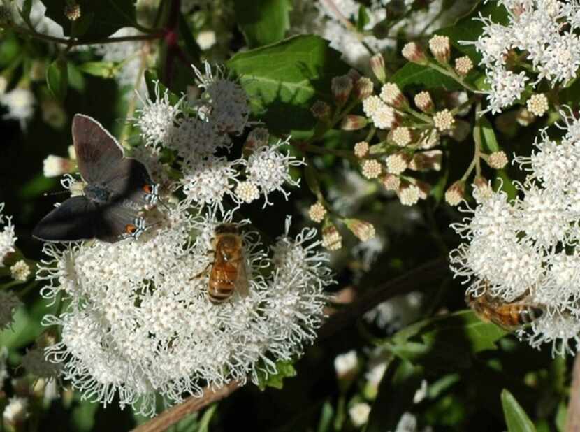
[[[219,224],[213,239],[214,261],[210,270],[208,297],[214,304],[224,303],[233,291],[247,296],[248,281],[244,245],[236,224]]]

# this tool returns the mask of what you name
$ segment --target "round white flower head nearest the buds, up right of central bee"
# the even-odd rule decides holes
[[[288,199],[289,192],[284,190],[284,183],[291,186],[298,186],[300,180],[293,180],[290,175],[291,166],[304,165],[304,161],[291,156],[289,152],[284,154],[280,151],[282,145],[287,145],[286,141],[278,141],[275,145],[263,145],[257,148],[247,159],[242,161],[245,164],[247,180],[260,188],[264,196],[264,206],[270,204],[268,194],[280,191],[284,198]]]

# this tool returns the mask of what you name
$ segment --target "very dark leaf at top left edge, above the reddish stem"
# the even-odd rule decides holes
[[[136,0],[77,0],[81,11],[79,24],[64,15],[66,0],[41,1],[46,6],[45,15],[60,24],[64,36],[78,36],[80,41],[99,41],[136,22]]]

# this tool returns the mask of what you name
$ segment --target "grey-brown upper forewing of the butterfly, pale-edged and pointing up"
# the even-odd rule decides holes
[[[123,150],[115,137],[88,115],[73,117],[78,171],[87,183],[106,183],[119,175]]]

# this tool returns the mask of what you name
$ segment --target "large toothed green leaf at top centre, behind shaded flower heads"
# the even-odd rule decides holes
[[[331,79],[349,69],[328,41],[307,35],[240,52],[227,66],[240,76],[254,114],[274,134],[312,129],[310,106],[317,99],[331,101]]]

